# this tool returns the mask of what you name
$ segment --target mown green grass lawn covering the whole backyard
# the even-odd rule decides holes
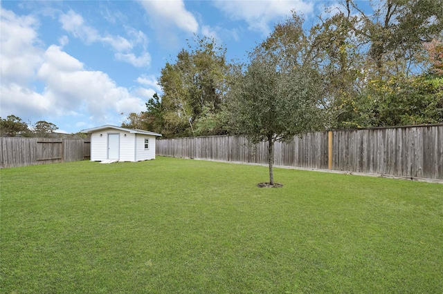
[[[443,185],[158,157],[1,170],[1,293],[442,293]]]

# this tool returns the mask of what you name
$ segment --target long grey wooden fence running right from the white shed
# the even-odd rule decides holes
[[[267,144],[241,136],[159,139],[156,155],[267,164]],[[443,179],[443,124],[332,130],[277,142],[275,165]]]

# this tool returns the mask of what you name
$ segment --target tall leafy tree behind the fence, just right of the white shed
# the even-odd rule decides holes
[[[197,135],[195,125],[199,119],[199,130],[210,132],[202,129],[209,126],[204,121],[213,121],[225,102],[230,72],[226,49],[206,37],[195,43],[195,48],[188,45],[188,50],[179,52],[175,63],[168,62],[161,70],[159,84],[163,90],[166,137]]]

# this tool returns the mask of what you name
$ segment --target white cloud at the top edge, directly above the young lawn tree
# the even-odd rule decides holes
[[[289,17],[291,10],[310,13],[314,9],[313,3],[300,0],[269,0],[269,1],[215,1],[215,6],[225,12],[231,19],[243,20],[248,23],[248,29],[268,35],[270,26],[275,19]]]

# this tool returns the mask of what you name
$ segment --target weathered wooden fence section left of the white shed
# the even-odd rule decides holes
[[[89,139],[0,138],[0,168],[79,161],[91,157]]]

